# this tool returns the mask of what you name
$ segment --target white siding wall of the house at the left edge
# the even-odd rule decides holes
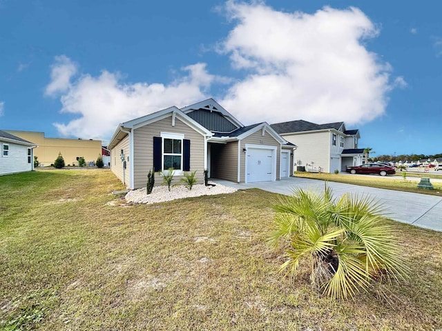
[[[9,146],[7,157],[3,157],[3,144]],[[28,146],[0,141],[0,175],[31,171],[34,159],[31,152],[31,163],[28,163],[28,148]]]

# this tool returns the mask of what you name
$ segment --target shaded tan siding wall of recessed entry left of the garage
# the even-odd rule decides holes
[[[210,177],[238,182],[238,141],[212,144]]]

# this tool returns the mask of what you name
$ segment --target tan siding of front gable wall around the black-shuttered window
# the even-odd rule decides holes
[[[146,187],[147,174],[153,170],[153,137],[161,137],[161,132],[184,134],[184,139],[191,141],[190,172],[196,170],[198,183],[204,183],[204,136],[178,118],[175,118],[175,126],[172,126],[172,117],[166,117],[133,130],[134,189]],[[175,175],[173,183],[178,183],[181,178]],[[162,178],[157,174],[155,185],[161,183]]]

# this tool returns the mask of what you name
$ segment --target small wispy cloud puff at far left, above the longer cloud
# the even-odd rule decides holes
[[[51,66],[50,83],[46,86],[45,95],[55,97],[70,88],[70,79],[77,73],[77,65],[66,55],[55,57]]]

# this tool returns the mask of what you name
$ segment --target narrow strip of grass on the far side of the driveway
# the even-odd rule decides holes
[[[419,181],[412,180],[410,178],[401,177],[400,172],[396,172],[396,176],[390,176],[390,178],[384,178],[377,174],[328,174],[325,172],[295,172],[295,177],[319,179],[322,181],[336,181],[338,183],[347,183],[355,185],[369,186],[371,188],[386,188],[389,190],[414,192],[421,194],[430,194],[442,197],[442,183],[437,181],[431,181],[434,190],[423,190],[417,188]],[[407,177],[430,177],[439,178],[437,175],[423,175],[423,174],[407,174]]]

